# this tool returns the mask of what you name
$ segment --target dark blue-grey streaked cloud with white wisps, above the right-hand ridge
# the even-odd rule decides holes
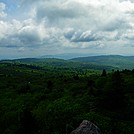
[[[64,37],[71,42],[94,42],[94,41],[116,41],[120,39],[118,31],[75,31],[69,29]]]

